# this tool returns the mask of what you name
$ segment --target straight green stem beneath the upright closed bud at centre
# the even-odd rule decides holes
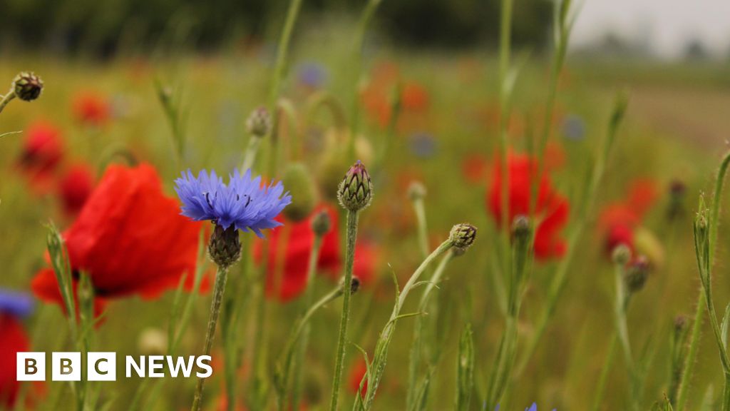
[[[332,398],[330,411],[337,410],[339,400],[339,384],[342,380],[342,366],[345,361],[345,340],[347,339],[347,322],[350,320],[349,284],[353,280],[353,264],[355,263],[355,242],[358,234],[358,211],[347,211],[347,252],[345,254],[345,294],[342,295],[342,315],[339,320],[339,335],[337,336],[337,359],[334,365],[334,379],[332,380]]]

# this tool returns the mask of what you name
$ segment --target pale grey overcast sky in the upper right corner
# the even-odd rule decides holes
[[[691,39],[707,49],[730,53],[730,0],[577,0],[580,14],[572,45],[603,37],[607,31],[647,39],[660,56],[677,57]],[[582,4],[581,4],[582,3]]]

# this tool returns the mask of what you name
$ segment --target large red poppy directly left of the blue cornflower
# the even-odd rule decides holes
[[[200,229],[201,223],[180,215],[177,200],[164,195],[153,167],[112,165],[64,240],[72,270],[88,273],[100,298],[153,298],[194,272]],[[55,284],[50,274],[36,276],[34,292],[61,303],[58,293],[47,292]]]

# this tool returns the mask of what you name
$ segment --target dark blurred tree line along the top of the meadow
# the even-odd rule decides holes
[[[172,42],[215,49],[280,26],[288,0],[3,0],[0,47],[99,56]],[[469,47],[496,44],[499,0],[383,0],[378,26],[399,45]],[[365,0],[304,0],[303,14],[359,13]],[[513,41],[549,40],[550,0],[515,2]]]

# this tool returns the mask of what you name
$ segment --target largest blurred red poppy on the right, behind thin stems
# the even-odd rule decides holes
[[[537,178],[537,159],[526,155],[510,154],[508,157],[510,186],[509,221],[520,214],[529,214],[531,184]],[[488,192],[488,207],[497,225],[502,225],[502,167],[495,163],[491,190]],[[540,178],[537,187],[536,218],[539,222],[535,231],[534,252],[538,260],[561,257],[566,251],[564,239],[559,238],[561,230],[568,222],[569,203],[553,188],[548,173]]]

